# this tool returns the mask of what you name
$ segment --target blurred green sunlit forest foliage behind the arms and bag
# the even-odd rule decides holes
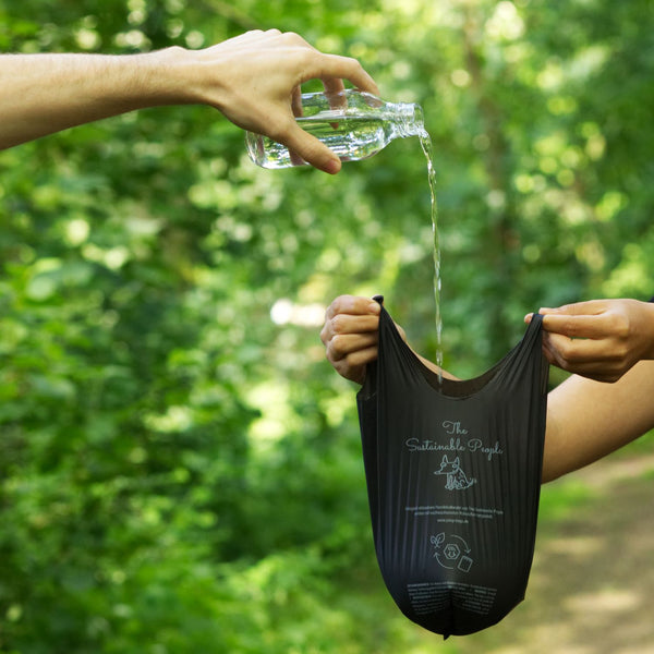
[[[270,27],[424,108],[449,370],[538,306],[654,294],[649,0],[0,0],[5,52]],[[0,153],[0,652],[458,652],[383,586],[318,338],[384,293],[433,356],[417,140],[272,172],[207,107],[144,110]]]

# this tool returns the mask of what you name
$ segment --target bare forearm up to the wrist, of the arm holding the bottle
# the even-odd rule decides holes
[[[0,56],[0,148],[185,97],[181,48],[130,56]]]

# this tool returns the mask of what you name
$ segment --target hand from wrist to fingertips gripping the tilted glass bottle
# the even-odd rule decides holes
[[[336,173],[339,158],[295,122],[301,112],[301,85],[323,81],[327,93],[349,80],[378,95],[373,78],[349,57],[325,55],[293,33],[253,31],[194,53],[202,64],[202,101],[217,107],[243,130],[265,134],[306,162]]]

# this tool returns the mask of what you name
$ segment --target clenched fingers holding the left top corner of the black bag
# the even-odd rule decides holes
[[[379,303],[370,298],[340,295],[325,313],[320,340],[336,372],[358,384],[377,359]]]

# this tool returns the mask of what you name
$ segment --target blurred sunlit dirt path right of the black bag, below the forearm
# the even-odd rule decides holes
[[[452,639],[458,652],[654,654],[654,456],[596,463],[544,493],[544,505],[585,499],[541,524],[525,601]]]

